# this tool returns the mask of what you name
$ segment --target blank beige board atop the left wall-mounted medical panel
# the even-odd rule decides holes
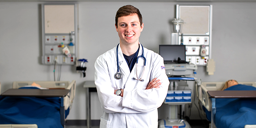
[[[75,31],[74,5],[44,5],[45,33],[70,33]]]

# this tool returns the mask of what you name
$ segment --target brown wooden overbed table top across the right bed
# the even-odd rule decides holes
[[[253,91],[207,91],[211,98],[256,98],[256,90]]]

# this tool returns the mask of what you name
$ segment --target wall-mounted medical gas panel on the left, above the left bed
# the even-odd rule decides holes
[[[77,4],[42,4],[42,63],[74,65],[78,56]]]

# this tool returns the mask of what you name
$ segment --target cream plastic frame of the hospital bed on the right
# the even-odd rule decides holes
[[[202,105],[209,112],[212,112],[211,128],[216,128],[215,124],[213,123],[213,116],[215,117],[215,113],[216,113],[215,98],[224,98],[224,97],[217,96],[216,91],[220,91],[221,88],[224,86],[225,82],[202,82],[201,84],[198,84],[198,83],[201,83],[201,82],[197,82],[197,84],[195,86],[196,87],[196,96],[198,97],[198,99],[202,103]],[[256,87],[256,82],[238,82],[238,83]],[[208,93],[208,91],[215,92],[215,94],[211,93],[212,95],[210,95]],[[214,96],[213,96],[213,94],[214,94]],[[227,98],[231,98],[231,97],[237,98],[234,96],[229,96]],[[211,100],[211,98],[213,100]],[[256,125],[245,125],[245,128],[256,128]]]

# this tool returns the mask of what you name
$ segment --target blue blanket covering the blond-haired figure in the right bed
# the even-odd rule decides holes
[[[256,90],[247,85],[234,85],[226,90]],[[215,125],[217,128],[244,128],[256,124],[256,99],[216,98]]]

